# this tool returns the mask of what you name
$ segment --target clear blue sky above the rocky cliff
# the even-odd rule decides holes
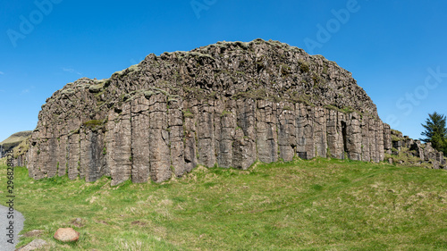
[[[97,2],[0,0],[0,141],[34,130],[46,98],[75,79],[108,78],[150,53],[255,38],[351,71],[382,120],[412,138],[428,113],[447,114],[446,1]]]

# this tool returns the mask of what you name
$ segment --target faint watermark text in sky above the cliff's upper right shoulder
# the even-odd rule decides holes
[[[316,28],[318,29],[316,31],[316,38],[304,38],[304,45],[307,48],[308,54],[314,54],[316,48],[321,49],[325,43],[329,42],[333,37],[333,34],[342,29],[342,24],[346,24],[350,21],[351,14],[358,13],[360,8],[357,0],[348,0],[345,8],[338,11],[332,9],[332,19],[326,21],[325,25],[322,25],[321,23],[316,24]]]

